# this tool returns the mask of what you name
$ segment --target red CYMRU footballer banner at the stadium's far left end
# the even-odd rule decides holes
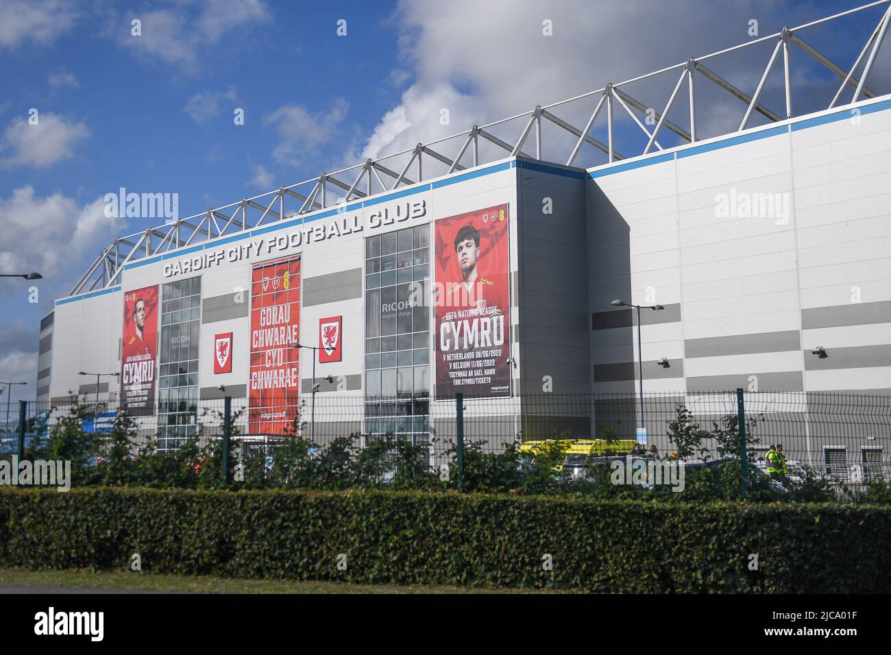
[[[158,354],[158,285],[124,294],[120,400],[131,416],[154,416]]]

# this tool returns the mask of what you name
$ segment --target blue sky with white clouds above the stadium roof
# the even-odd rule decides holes
[[[33,398],[37,327],[53,299],[115,236],[160,222],[104,217],[105,193],[176,192],[180,217],[190,216],[742,43],[753,18],[767,34],[861,3],[672,4],[0,0],[0,272],[45,276],[38,303],[28,282],[3,279],[0,380],[29,381],[13,398]],[[882,11],[815,30],[814,43],[847,65]],[[770,50],[715,67],[751,92]],[[797,75],[809,109],[831,74],[803,63]],[[675,77],[650,97],[664,100]],[[773,79],[765,96],[778,108],[780,89]],[[40,132],[29,129],[32,108]],[[583,110],[566,118],[581,127]],[[719,110],[703,113],[704,129],[742,111]]]

